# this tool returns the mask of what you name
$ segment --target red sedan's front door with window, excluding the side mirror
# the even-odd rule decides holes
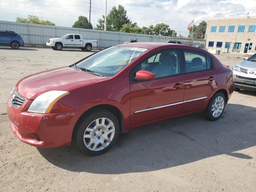
[[[157,52],[130,72],[131,126],[181,113],[184,96],[184,74],[180,50]],[[138,70],[156,74],[156,80],[136,82]]]

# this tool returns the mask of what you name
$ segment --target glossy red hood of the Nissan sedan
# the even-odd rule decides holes
[[[22,96],[34,100],[47,91],[70,91],[106,78],[109,77],[96,76],[70,67],[62,67],[27,76],[16,84],[16,88]]]

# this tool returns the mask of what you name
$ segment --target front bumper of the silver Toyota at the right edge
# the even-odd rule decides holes
[[[245,74],[233,70],[234,86],[244,90],[256,90],[256,75]]]

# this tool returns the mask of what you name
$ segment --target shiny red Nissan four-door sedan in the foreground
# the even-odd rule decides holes
[[[232,70],[205,50],[130,43],[23,78],[7,112],[12,131],[27,144],[73,142],[82,153],[98,155],[119,132],[137,126],[193,112],[217,120],[233,85]]]

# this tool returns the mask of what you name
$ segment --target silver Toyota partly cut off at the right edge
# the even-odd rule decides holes
[[[234,65],[234,90],[256,91],[256,54]]]

